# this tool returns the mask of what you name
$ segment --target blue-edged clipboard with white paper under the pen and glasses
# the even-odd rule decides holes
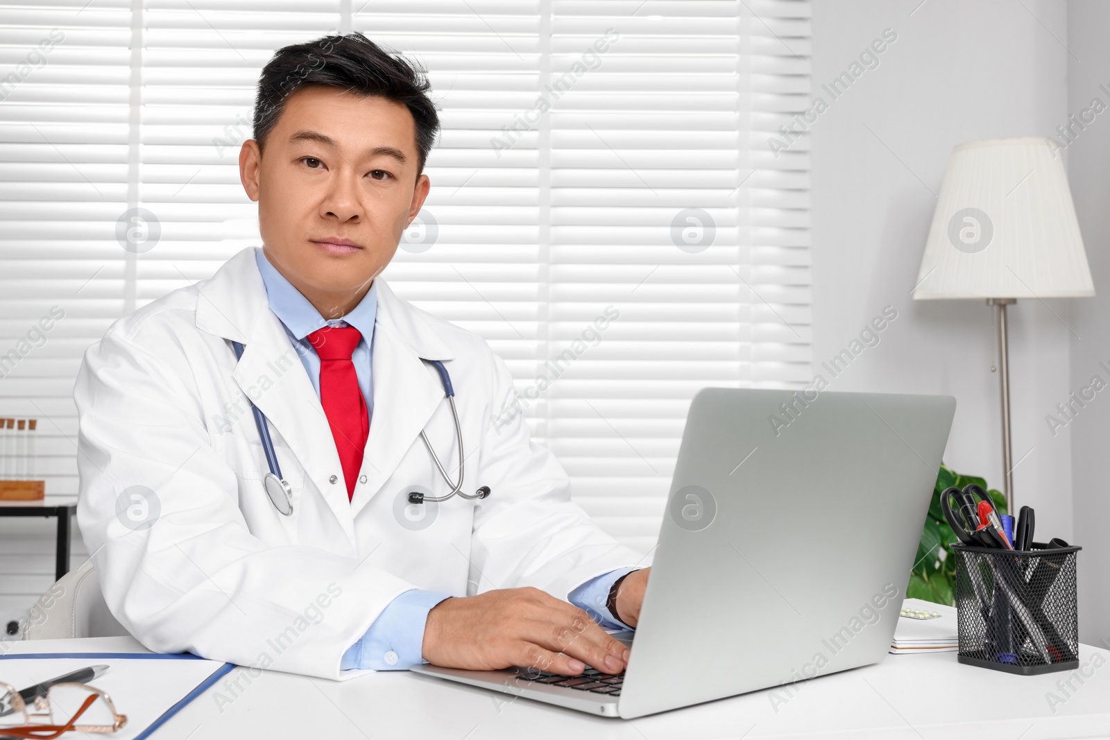
[[[33,667],[26,661],[33,661]],[[17,688],[23,688],[23,686],[30,686],[98,661],[110,661],[109,665],[111,668],[97,679],[97,688],[103,689],[112,698],[120,713],[128,714],[128,724],[131,724],[132,717],[145,716],[145,719],[141,720],[145,722],[145,727],[139,730],[137,734],[132,734],[134,732],[133,727],[124,727],[110,736],[104,736],[112,740],[147,740],[155,730],[169,721],[171,717],[235,668],[234,663],[205,660],[200,656],[188,652],[23,652],[0,656],[0,680],[11,683]],[[128,662],[121,663],[120,661]],[[150,670],[153,666],[144,666],[148,661],[189,661],[190,665],[189,670],[179,671],[174,676],[172,671]],[[193,661],[199,662],[194,663]],[[165,665],[169,666],[170,663]],[[16,666],[19,666],[19,669],[11,670]],[[113,670],[118,667],[122,668],[122,666],[127,666],[128,668],[124,670]],[[113,672],[115,676],[112,676]],[[29,678],[29,673],[33,673],[37,678]],[[128,683],[134,683],[137,678],[143,677],[157,677],[159,690],[162,692],[162,696],[158,698],[138,697],[131,692],[120,692],[118,689],[113,690],[113,688],[102,686],[103,683],[122,683],[127,686]],[[16,680],[11,680],[12,678]],[[110,678],[113,680],[108,680]],[[173,681],[174,678],[179,680]],[[196,682],[198,679],[200,679],[199,682]],[[171,683],[171,686],[167,686],[167,683]],[[167,697],[170,697],[170,699]],[[172,700],[172,697],[178,698],[167,707],[167,702]],[[152,712],[147,710],[147,704],[143,704],[143,702],[157,703],[159,701],[160,706],[164,707],[160,712],[158,711],[159,707],[155,707]],[[142,707],[143,711],[137,713],[135,709],[139,707]],[[151,717],[152,713],[153,717]]]

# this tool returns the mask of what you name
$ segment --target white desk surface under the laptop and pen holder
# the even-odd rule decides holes
[[[11,652],[142,650],[130,638],[17,642]],[[888,656],[867,668],[799,685],[776,708],[769,691],[626,721],[603,719],[416,676],[373,673],[345,682],[235,669],[155,733],[165,740],[241,738],[911,738],[1040,740],[1110,738],[1110,651],[1081,646],[1081,663],[1104,663],[1063,703],[1070,672],[1021,677],[956,662],[956,653]],[[1088,668],[1090,673],[1092,669]],[[240,679],[239,689],[225,683]],[[682,680],[682,679],[676,679]],[[216,692],[230,699],[220,700]],[[238,696],[233,696],[238,695]],[[953,701],[960,697],[960,701]],[[127,700],[117,698],[127,713]],[[988,707],[987,709],[982,709]],[[105,736],[110,738],[111,736]]]

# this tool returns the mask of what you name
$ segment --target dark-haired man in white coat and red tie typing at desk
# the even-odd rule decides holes
[[[379,277],[428,194],[427,91],[361,34],[280,50],[240,153],[262,249],[84,356],[78,520],[109,608],[153,650],[332,679],[627,662],[595,619],[635,626],[642,557],[571,501],[523,418],[492,422],[515,391],[488,345]],[[252,403],[287,501],[263,486]],[[442,503],[408,501],[453,489],[422,430],[465,470]]]

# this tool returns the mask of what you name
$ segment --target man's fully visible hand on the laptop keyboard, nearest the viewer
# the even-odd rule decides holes
[[[619,673],[628,662],[627,648],[589,615],[536,588],[441,601],[427,612],[423,653],[424,660],[444,668],[522,666],[563,676],[577,676],[586,665]]]

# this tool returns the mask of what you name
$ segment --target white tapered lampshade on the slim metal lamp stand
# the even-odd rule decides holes
[[[914,298],[1094,295],[1076,206],[1051,140],[952,149]]]

